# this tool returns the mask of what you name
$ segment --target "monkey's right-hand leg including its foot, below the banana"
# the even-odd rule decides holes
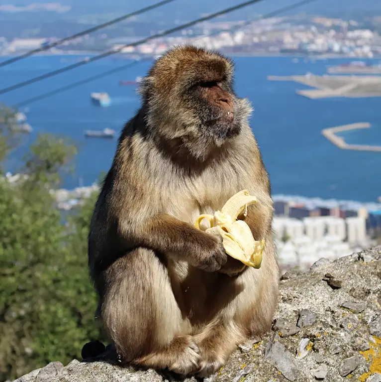
[[[214,306],[210,307],[210,311],[218,313],[194,335],[201,355],[200,377],[222,367],[237,345],[247,338],[263,335],[271,328],[278,301],[278,280],[270,238],[261,268],[247,267],[236,277],[221,275]]]

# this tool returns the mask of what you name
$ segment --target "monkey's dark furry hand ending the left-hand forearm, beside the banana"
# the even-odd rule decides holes
[[[197,248],[198,254],[194,258],[197,263],[192,265],[207,272],[217,271],[227,261],[222,237],[204,232],[199,233],[202,235],[202,240],[199,243],[200,248]]]

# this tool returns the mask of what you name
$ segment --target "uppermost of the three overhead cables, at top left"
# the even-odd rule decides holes
[[[135,11],[133,11],[131,13],[127,13],[127,14],[125,14],[123,16],[114,18],[114,19],[112,19],[110,21],[104,22],[103,24],[95,25],[92,28],[83,30],[82,32],[78,32],[78,33],[75,33],[75,34],[73,34],[71,36],[68,36],[68,37],[62,38],[60,40],[54,41],[54,42],[52,42],[52,43],[50,43],[48,45],[44,45],[44,46],[41,46],[40,48],[30,50],[29,52],[21,54],[21,55],[19,55],[17,57],[13,57],[13,58],[10,58],[10,59],[8,59],[6,61],[0,62],[0,68],[2,66],[9,65],[9,64],[12,64],[13,62],[19,61],[19,60],[21,60],[23,58],[29,57],[29,56],[31,56],[33,54],[38,53],[38,52],[42,52],[44,50],[48,50],[50,48],[53,48],[53,47],[55,47],[57,45],[61,45],[62,43],[66,42],[66,41],[74,40],[77,37],[81,37],[81,36],[84,36],[85,34],[89,34],[89,33],[95,32],[96,30],[105,28],[106,26],[109,26],[109,25],[112,25],[112,24],[116,24],[117,22],[120,22],[120,21],[126,20],[128,18],[131,18],[132,16],[137,16],[138,14],[142,14],[142,13],[148,12],[149,10],[158,8],[159,6],[162,6],[164,4],[168,4],[168,3],[173,2],[173,1],[176,1],[176,0],[163,0],[163,1],[156,2],[155,4],[146,6],[144,8],[135,10]]]

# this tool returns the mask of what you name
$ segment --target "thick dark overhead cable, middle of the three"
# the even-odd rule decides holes
[[[177,31],[179,31],[179,30],[182,30],[182,29],[188,28],[188,27],[190,27],[190,26],[193,26],[193,25],[195,25],[195,24],[198,24],[199,22],[206,21],[206,20],[210,20],[211,18],[220,16],[220,15],[225,14],[225,13],[232,12],[232,11],[234,11],[234,10],[243,8],[243,7],[245,7],[245,6],[254,4],[254,3],[259,2],[259,1],[263,1],[263,0],[249,0],[249,1],[241,2],[240,4],[231,6],[231,7],[229,7],[229,8],[225,8],[225,9],[220,10],[220,11],[215,12],[215,13],[211,13],[211,14],[209,14],[209,15],[207,15],[207,16],[204,16],[204,17],[201,17],[201,18],[197,18],[196,20],[187,22],[187,23],[185,23],[185,24],[176,26],[176,27],[171,28],[171,29],[167,29],[167,30],[165,30],[165,31],[163,31],[163,32],[156,33],[156,34],[154,34],[154,35],[152,35],[152,36],[143,38],[142,40],[133,42],[133,43],[131,43],[131,44],[122,45],[122,46],[121,46],[120,48],[118,48],[118,49],[109,50],[109,51],[107,51],[107,52],[101,53],[101,54],[99,54],[99,55],[97,55],[97,56],[94,56],[94,57],[91,57],[91,58],[89,58],[89,59],[82,60],[82,61],[80,61],[80,62],[76,62],[75,64],[65,66],[64,68],[57,69],[57,70],[53,70],[52,72],[48,72],[48,73],[43,74],[43,75],[41,75],[41,76],[37,76],[37,77],[31,78],[30,80],[26,80],[26,81],[23,81],[23,82],[19,82],[18,84],[15,84],[15,85],[12,85],[12,86],[8,86],[7,88],[3,88],[3,89],[1,89],[1,90],[0,90],[0,95],[1,95],[1,94],[5,94],[5,93],[8,93],[8,92],[11,92],[11,91],[16,90],[16,89],[19,89],[19,88],[23,88],[24,86],[33,84],[33,83],[35,83],[35,82],[42,81],[42,80],[44,80],[44,79],[46,79],[46,78],[56,76],[57,74],[61,74],[61,73],[67,72],[67,71],[69,71],[69,70],[78,68],[78,67],[80,67],[80,66],[89,64],[90,62],[94,62],[94,61],[100,60],[101,58],[105,58],[105,57],[111,56],[112,54],[119,53],[119,52],[120,52],[121,50],[123,50],[124,48],[127,48],[127,47],[135,47],[135,46],[144,44],[144,43],[146,43],[146,42],[148,42],[148,41],[150,41],[150,40],[153,40],[153,39],[155,39],[155,38],[166,36],[167,34],[171,34],[171,33],[177,32]]]

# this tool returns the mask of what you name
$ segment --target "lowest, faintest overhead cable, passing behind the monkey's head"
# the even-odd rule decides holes
[[[255,18],[252,18],[252,19],[249,19],[249,20],[246,20],[244,23],[242,24],[237,24],[231,28],[225,28],[225,29],[218,29],[217,31],[209,34],[207,37],[210,37],[210,36],[213,36],[213,35],[216,35],[216,34],[219,34],[221,32],[225,32],[225,31],[232,31],[232,30],[236,30],[236,29],[241,29],[242,27],[244,26],[247,26],[253,22],[256,22],[256,21],[260,21],[260,20],[263,20],[263,19],[266,19],[266,18],[270,18],[270,17],[273,17],[273,16],[276,16],[278,15],[279,13],[283,13],[285,11],[288,11],[288,10],[291,10],[291,9],[294,9],[294,8],[297,8],[301,5],[304,5],[304,4],[307,4],[307,3],[310,3],[310,2],[313,2],[313,1],[316,1],[316,0],[302,0],[302,1],[297,1],[293,4],[290,4],[288,6],[285,6],[283,8],[279,8],[279,9],[276,9],[272,12],[269,12],[269,13],[266,13],[262,16],[259,16],[259,17],[255,17]],[[196,40],[199,40],[199,39],[202,39],[204,38],[205,36],[200,36],[200,37],[196,37],[195,38],[195,41]],[[106,76],[109,76],[111,74],[114,74],[114,73],[117,73],[117,72],[120,72],[122,70],[126,70],[128,68],[131,68],[132,66],[135,66],[137,65],[138,63],[140,62],[144,62],[144,61],[150,61],[152,60],[151,57],[147,57],[147,58],[142,58],[142,59],[138,59],[138,60],[135,60],[133,62],[129,62],[128,64],[125,64],[125,65],[122,65],[122,66],[118,66],[117,68],[114,68],[114,69],[111,69],[111,70],[107,70],[105,72],[102,72],[102,73],[99,73],[99,74],[96,74],[94,76],[91,76],[91,77],[88,77],[88,78],[85,78],[83,80],[80,80],[80,81],[77,81],[77,82],[74,82],[72,84],[69,84],[69,85],[66,85],[66,86],[63,86],[61,88],[58,88],[58,89],[55,89],[55,90],[52,90],[50,92],[47,92],[47,93],[43,93],[39,96],[35,96],[35,97],[32,97],[32,98],[29,98],[25,101],[22,101],[22,102],[19,102],[18,104],[15,105],[15,107],[21,107],[21,106],[25,106],[25,105],[29,105],[33,102],[36,102],[36,101],[39,101],[39,100],[42,100],[42,99],[45,99],[45,98],[48,98],[48,97],[51,97],[51,96],[54,96],[58,93],[61,93],[61,92],[64,92],[66,90],[70,90],[70,89],[73,89],[77,86],[80,86],[80,85],[84,85],[88,82],[92,82],[92,81],[95,81],[99,78],[103,78],[103,77],[106,77]]]

